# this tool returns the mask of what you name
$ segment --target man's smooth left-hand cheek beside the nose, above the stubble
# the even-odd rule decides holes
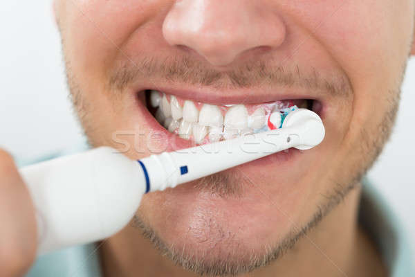
[[[114,61],[126,55],[120,47],[154,17],[160,6],[157,2],[75,0],[60,5],[64,9],[60,25],[66,58],[82,87],[102,89],[100,84],[107,81]]]

